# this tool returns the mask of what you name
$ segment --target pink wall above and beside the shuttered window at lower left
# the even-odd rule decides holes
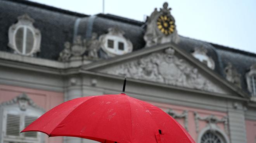
[[[0,84],[0,103],[9,101],[22,93],[26,93],[36,105],[42,107],[45,111],[64,101],[63,93]],[[62,143],[62,137],[48,138],[46,136],[45,143]]]

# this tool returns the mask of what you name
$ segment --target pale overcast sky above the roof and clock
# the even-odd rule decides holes
[[[103,0],[31,1],[87,15],[103,10]],[[145,21],[164,2],[178,34],[256,53],[256,0],[105,0],[104,13]]]

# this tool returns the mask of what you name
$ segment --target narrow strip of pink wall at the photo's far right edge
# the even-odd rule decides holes
[[[247,143],[256,143],[256,121],[246,120]]]

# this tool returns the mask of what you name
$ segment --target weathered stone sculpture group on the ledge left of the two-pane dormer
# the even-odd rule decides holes
[[[59,54],[59,61],[69,61],[71,57],[81,57],[87,51],[85,59],[97,60],[99,59],[98,51],[100,49],[100,41],[97,39],[97,34],[93,33],[89,40],[81,38],[81,35],[75,37],[73,44],[70,42],[64,43],[64,49]]]

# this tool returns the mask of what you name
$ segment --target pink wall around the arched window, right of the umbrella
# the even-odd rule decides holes
[[[195,117],[194,117],[194,111],[197,111],[200,117],[206,117],[211,114],[215,115],[218,119],[223,118],[224,116],[227,116],[227,113],[223,112],[216,112],[216,111],[209,111],[209,110],[203,110],[203,109],[197,109],[197,108],[189,108],[189,107],[184,107],[184,106],[175,106],[175,105],[169,105],[169,104],[162,104],[162,103],[154,103],[150,102],[151,104],[163,109],[163,111],[168,111],[170,108],[173,109],[177,114],[182,114],[184,110],[188,111],[188,129],[189,129],[189,134],[192,136],[192,138],[197,142],[197,136],[200,130],[206,127],[207,122],[206,121],[200,121],[199,120],[199,132],[196,132],[195,128]],[[178,123],[180,123],[184,127],[184,118],[181,119],[176,119]],[[223,123],[218,123],[217,126],[225,131],[224,124]],[[227,135],[227,133],[226,133]]]

